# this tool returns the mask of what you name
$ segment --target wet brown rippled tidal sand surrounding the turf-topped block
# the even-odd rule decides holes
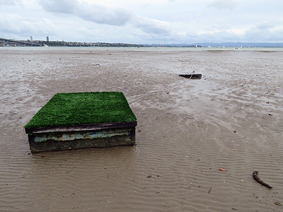
[[[282,51],[11,47],[0,61],[0,211],[283,211]],[[137,145],[30,154],[23,126],[84,91],[125,94]]]

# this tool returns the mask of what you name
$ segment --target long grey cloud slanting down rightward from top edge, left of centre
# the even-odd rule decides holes
[[[78,0],[39,0],[39,3],[45,11],[67,13],[93,23],[117,26],[131,24],[144,33],[164,34],[170,32],[167,22],[137,16],[125,7],[90,4]]]

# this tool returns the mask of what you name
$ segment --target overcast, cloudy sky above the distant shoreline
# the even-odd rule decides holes
[[[172,44],[283,42],[282,0],[0,0],[0,37]]]

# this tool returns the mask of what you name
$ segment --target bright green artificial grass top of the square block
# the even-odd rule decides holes
[[[57,93],[24,128],[135,121],[122,92]]]

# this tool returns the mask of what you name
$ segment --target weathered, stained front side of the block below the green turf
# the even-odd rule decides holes
[[[135,143],[135,126],[92,131],[29,133],[30,151],[60,151],[77,148],[129,146]]]

